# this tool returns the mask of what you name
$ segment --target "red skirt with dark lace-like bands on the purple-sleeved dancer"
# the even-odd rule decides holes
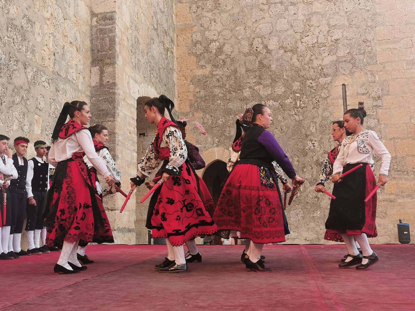
[[[275,177],[273,181],[278,182]],[[257,165],[235,166],[220,194],[213,220],[220,231],[240,231],[241,238],[254,243],[285,241],[278,188],[261,184]]]

